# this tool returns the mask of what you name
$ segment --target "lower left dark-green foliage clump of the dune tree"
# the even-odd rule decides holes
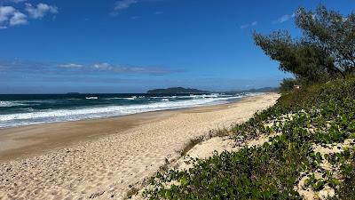
[[[293,40],[287,31],[275,31],[270,36],[254,34],[256,45],[272,60],[280,62],[279,68],[310,82],[320,82],[334,76],[333,63],[316,45]]]

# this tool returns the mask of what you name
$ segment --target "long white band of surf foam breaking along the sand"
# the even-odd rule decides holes
[[[99,118],[107,116],[125,116],[136,113],[143,113],[156,110],[176,109],[176,108],[192,108],[202,105],[214,105],[228,102],[228,100],[240,99],[251,94],[243,94],[229,97],[217,98],[194,98],[192,100],[169,101],[162,99],[159,102],[126,105],[126,106],[107,106],[96,108],[77,108],[77,109],[57,109],[36,111],[31,113],[18,113],[9,115],[0,115],[0,127],[27,125],[27,124],[43,124],[50,122],[75,121],[88,118]],[[132,96],[135,100],[137,97]]]

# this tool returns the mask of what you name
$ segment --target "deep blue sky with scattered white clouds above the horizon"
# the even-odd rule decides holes
[[[281,72],[252,39],[287,29],[319,4],[354,0],[0,0],[0,93],[146,92],[278,86]]]

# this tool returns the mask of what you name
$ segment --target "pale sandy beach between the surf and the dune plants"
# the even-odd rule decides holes
[[[0,199],[123,199],[191,139],[278,98],[0,130]]]

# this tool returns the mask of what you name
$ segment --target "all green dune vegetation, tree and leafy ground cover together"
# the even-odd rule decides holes
[[[269,141],[207,159],[187,159],[187,170],[158,172],[148,199],[355,199],[355,14],[319,6],[300,8],[300,39],[287,31],[254,34],[256,44],[293,73],[272,107],[228,132],[236,145],[262,135]],[[290,92],[293,84],[303,84]],[[186,156],[188,158],[188,156]],[[330,193],[331,194],[331,193]],[[312,198],[311,197],[311,198]]]

